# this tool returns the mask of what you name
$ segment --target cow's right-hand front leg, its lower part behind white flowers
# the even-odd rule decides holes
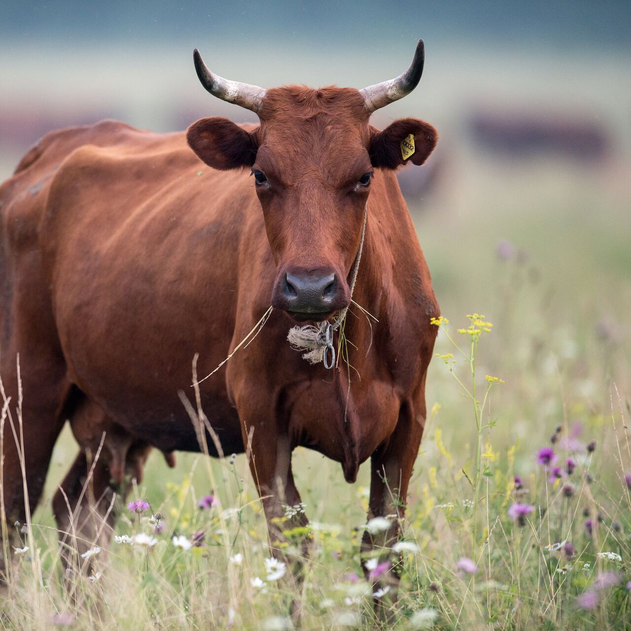
[[[368,524],[362,539],[362,566],[372,584],[375,611],[388,618],[396,603],[401,579],[401,556],[392,551],[398,541],[405,512],[408,483],[418,454],[425,408],[413,416],[404,404],[398,423],[387,442],[371,457]]]

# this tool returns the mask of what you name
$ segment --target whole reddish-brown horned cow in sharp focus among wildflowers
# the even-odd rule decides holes
[[[194,60],[206,89],[256,111],[258,127],[208,118],[187,134],[112,121],[57,131],[0,189],[9,524],[25,519],[23,471],[30,510],[37,505],[67,419],[81,449],[54,500],[61,531],[64,495],[85,508],[86,449],[100,449],[92,478],[102,512],[114,492],[124,497],[124,473],[140,475],[150,446],[171,464],[173,451],[199,451],[178,395],[193,393],[191,362],[198,354],[198,374],[211,372],[271,303],[251,344],[199,384],[221,447],[206,432],[209,452],[247,445],[268,522],[300,502],[297,445],[341,463],[348,482],[370,457],[369,517],[391,516],[391,527],[365,534],[363,550],[383,546],[387,557],[425,424],[439,314],[394,170],[404,139],[412,134],[409,159],[422,164],[437,134],[417,119],[378,131],[369,118],[415,88],[422,42],[406,73],[360,91],[262,90],[213,75],[197,51]],[[372,325],[350,304],[353,270],[353,301]],[[312,365],[290,347],[296,321],[333,322],[349,305],[352,368]],[[18,356],[23,459],[11,430],[19,436]],[[290,521],[307,523],[300,512]],[[274,522],[273,543],[283,537]],[[395,574],[379,581],[396,584]]]

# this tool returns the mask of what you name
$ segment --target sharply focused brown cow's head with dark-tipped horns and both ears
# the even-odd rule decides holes
[[[417,165],[436,144],[435,129],[418,119],[383,131],[369,124],[372,112],[416,87],[423,58],[420,40],[405,73],[363,90],[264,90],[211,73],[194,52],[204,88],[256,112],[261,124],[245,131],[225,118],[202,119],[189,127],[189,145],[213,168],[251,170],[277,266],[272,304],[297,321],[322,321],[350,303],[348,274],[375,168],[406,162],[401,142],[410,134],[415,152],[408,159]]]

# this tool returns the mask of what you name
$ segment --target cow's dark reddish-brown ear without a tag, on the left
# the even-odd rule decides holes
[[[256,130],[245,131],[225,118],[215,116],[194,122],[186,139],[209,167],[221,170],[251,167],[256,160]]]

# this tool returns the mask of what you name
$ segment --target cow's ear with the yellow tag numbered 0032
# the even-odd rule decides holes
[[[414,137],[414,153],[410,153],[410,134]],[[429,123],[418,119],[399,119],[383,131],[373,129],[369,148],[370,162],[374,167],[382,168],[397,168],[406,162],[421,165],[432,153],[437,142],[438,133]]]

